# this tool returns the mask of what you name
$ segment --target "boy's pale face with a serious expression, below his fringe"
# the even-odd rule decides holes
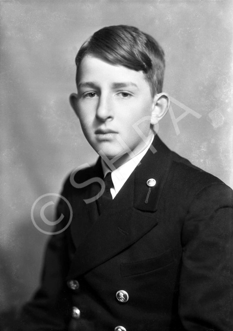
[[[143,72],[88,55],[80,64],[77,88],[71,103],[97,153],[108,159],[121,155],[121,164],[130,158],[129,150],[138,154],[150,142],[154,104]]]

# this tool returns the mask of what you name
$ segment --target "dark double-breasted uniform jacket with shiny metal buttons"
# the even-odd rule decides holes
[[[153,146],[100,215],[84,201],[100,191],[100,160],[75,175],[82,188],[68,178],[72,221],[49,241],[23,331],[233,330],[232,191]],[[57,231],[71,216],[62,199],[61,214]]]

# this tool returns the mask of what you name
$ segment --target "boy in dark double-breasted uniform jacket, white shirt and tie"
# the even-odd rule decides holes
[[[72,221],[49,242],[22,329],[232,331],[232,191],[154,135],[169,107],[161,47],[107,27],[76,65],[70,102],[101,158],[64,185]],[[57,209],[59,231],[70,210]]]

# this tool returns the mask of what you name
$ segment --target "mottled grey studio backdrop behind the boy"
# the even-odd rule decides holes
[[[159,123],[160,137],[233,186],[233,12],[232,1],[217,0],[2,0],[0,4],[0,314],[4,316],[20,307],[39,282],[49,236],[31,220],[34,202],[44,194],[59,193],[71,169],[97,157],[68,102],[76,91],[75,55],[96,30],[134,25],[159,41],[166,54],[164,92],[173,98],[170,112]],[[38,204],[56,198],[46,196]],[[43,226],[38,210],[36,221]],[[53,211],[54,205],[48,205],[48,219]]]

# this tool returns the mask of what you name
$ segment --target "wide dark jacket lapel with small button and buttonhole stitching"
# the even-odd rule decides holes
[[[86,214],[86,217],[83,217],[81,222],[76,220],[75,227],[78,226],[81,229],[79,232],[87,234],[84,240],[75,240],[80,244],[72,260],[68,279],[77,277],[117,255],[157,224],[155,211],[167,176],[168,165],[165,162],[169,162],[170,152],[158,137],[155,137],[153,146],[157,152],[153,154],[148,150],[141,164],[95,222],[90,221],[90,217],[96,204],[82,206],[79,211],[80,219],[83,217],[82,213]],[[100,166],[98,162],[96,169]],[[145,203],[149,189],[146,182],[150,178],[156,180],[156,185],[151,189],[148,203]],[[86,190],[86,194],[95,191],[93,185],[90,186],[92,187]],[[85,227],[85,231],[82,226]],[[71,230],[80,236],[77,229]]]

